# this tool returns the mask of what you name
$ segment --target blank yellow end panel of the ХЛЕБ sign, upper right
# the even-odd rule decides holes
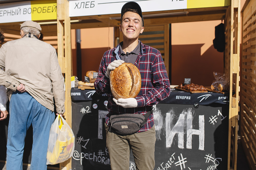
[[[231,0],[187,0],[187,9],[230,6],[230,5],[231,5]]]

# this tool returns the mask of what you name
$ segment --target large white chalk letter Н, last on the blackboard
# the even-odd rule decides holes
[[[192,149],[192,135],[199,135],[199,150],[205,149],[205,117],[199,115],[199,129],[192,127],[192,110],[187,113],[187,149]]]

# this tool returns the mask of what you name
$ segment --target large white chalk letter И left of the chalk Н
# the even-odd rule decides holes
[[[184,114],[179,115],[179,119],[171,129],[171,114],[166,113],[166,148],[172,146],[173,138],[178,133],[178,147],[184,149]]]

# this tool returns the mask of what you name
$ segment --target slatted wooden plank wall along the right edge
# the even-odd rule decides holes
[[[241,142],[251,169],[256,169],[256,0],[242,12]]]

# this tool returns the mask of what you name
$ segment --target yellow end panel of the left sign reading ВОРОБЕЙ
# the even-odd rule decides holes
[[[56,0],[31,1],[31,20],[55,20],[57,19]]]

